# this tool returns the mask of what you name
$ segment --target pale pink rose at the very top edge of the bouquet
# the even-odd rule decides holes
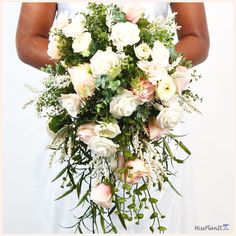
[[[144,9],[137,4],[125,4],[123,7],[126,20],[136,24],[142,16]]]

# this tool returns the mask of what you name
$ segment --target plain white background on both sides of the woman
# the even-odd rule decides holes
[[[191,212],[186,214],[191,221],[186,232],[196,232],[195,225],[229,224],[231,230],[234,227],[236,86],[233,52],[236,39],[233,4],[218,2],[205,6],[211,48],[207,61],[198,66],[203,79],[196,85],[204,98],[203,115],[187,119],[189,134],[185,143],[193,155],[186,168],[191,169],[189,175],[185,174],[186,184],[177,186],[183,195],[193,196],[187,198]],[[58,186],[50,183],[55,171],[48,170],[48,156],[43,150],[48,141],[45,121],[36,117],[33,108],[21,110],[23,104],[34,97],[24,84],[38,87],[42,73],[17,58],[15,31],[19,10],[19,3],[3,4],[3,230],[5,233],[50,233],[50,228],[35,231],[39,221],[46,225],[53,214],[64,213],[48,212],[45,201],[56,204],[53,202],[56,196],[45,195],[43,189],[35,190]],[[45,185],[39,185],[39,179]],[[39,212],[37,215],[41,216],[35,217]]]

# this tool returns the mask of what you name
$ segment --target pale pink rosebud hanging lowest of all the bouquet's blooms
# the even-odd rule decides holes
[[[98,184],[91,190],[91,200],[104,208],[111,208],[112,188],[108,184]]]

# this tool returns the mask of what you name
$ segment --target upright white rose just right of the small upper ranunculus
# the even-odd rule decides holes
[[[155,63],[163,66],[169,65],[170,52],[160,41],[154,43],[151,55]]]

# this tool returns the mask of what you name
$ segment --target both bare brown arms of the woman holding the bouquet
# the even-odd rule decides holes
[[[171,3],[171,10],[178,12],[178,43],[176,51],[198,65],[208,56],[209,34],[204,3]],[[54,64],[47,55],[48,32],[53,23],[57,3],[22,3],[16,47],[19,58],[37,69]]]

